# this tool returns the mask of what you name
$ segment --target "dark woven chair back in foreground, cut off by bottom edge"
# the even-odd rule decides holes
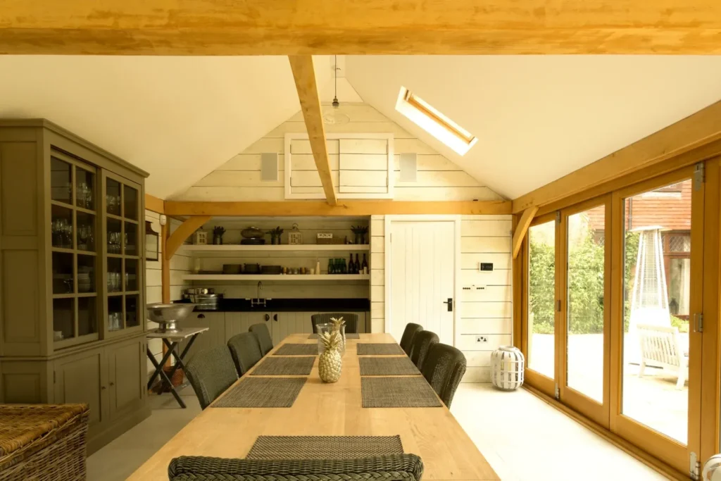
[[[423,462],[415,454],[300,461],[180,456],[168,466],[169,481],[420,481],[422,477]]]

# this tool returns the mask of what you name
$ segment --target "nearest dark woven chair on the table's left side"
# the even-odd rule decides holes
[[[202,409],[211,405],[238,379],[233,357],[224,345],[196,353],[185,365],[185,374]]]

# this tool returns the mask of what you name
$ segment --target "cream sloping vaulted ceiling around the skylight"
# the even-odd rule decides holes
[[[331,59],[315,62],[329,101]],[[360,100],[355,89],[508,198],[721,99],[720,56],[349,56],[339,66],[341,102]],[[461,157],[399,115],[401,85],[476,146]],[[146,169],[161,198],[298,109],[285,57],[0,56],[1,118],[48,118]]]

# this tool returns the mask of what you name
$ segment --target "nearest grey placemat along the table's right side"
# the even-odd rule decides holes
[[[422,377],[362,377],[363,407],[441,407]]]

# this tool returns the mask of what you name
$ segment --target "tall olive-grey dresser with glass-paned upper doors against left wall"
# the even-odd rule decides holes
[[[0,402],[87,403],[92,452],[149,415],[147,174],[46,120],[0,120],[0,164]]]

